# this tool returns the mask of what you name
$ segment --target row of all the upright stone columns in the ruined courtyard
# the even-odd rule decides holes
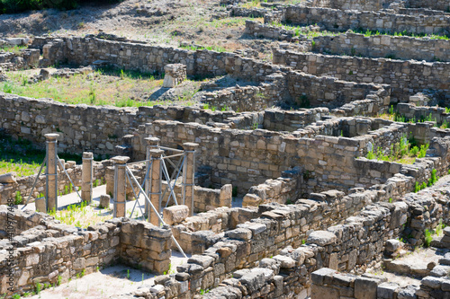
[[[57,142],[58,134],[46,134],[47,138],[47,168],[46,168],[46,209],[51,211],[58,209],[58,156]],[[163,180],[163,154],[159,148],[159,138],[148,137],[147,141],[147,168],[148,176],[145,181],[145,192],[151,204],[159,214],[161,212],[162,200],[162,180]],[[195,150],[199,146],[195,143],[184,143],[184,164],[183,167],[183,202],[189,207],[190,215],[193,215],[193,186],[195,172]],[[125,216],[126,203],[126,164],[130,158],[126,156],[116,156],[112,158],[114,167],[114,217]],[[92,153],[83,153],[81,198],[83,201],[91,202],[93,193],[93,160]],[[169,182],[167,182],[168,184]],[[136,192],[139,193],[139,190]],[[159,217],[146,200],[145,212],[149,222],[155,225],[160,224]]]

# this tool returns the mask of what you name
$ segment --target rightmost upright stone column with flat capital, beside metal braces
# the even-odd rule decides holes
[[[195,173],[195,149],[198,144],[184,143],[183,195],[184,205],[189,207],[189,215],[193,215],[193,178]]]

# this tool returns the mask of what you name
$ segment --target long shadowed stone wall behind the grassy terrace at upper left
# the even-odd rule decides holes
[[[249,81],[264,81],[266,75],[280,71],[273,66],[238,54],[206,49],[186,50],[143,43],[86,38],[35,38],[33,48],[41,48],[41,64],[110,65],[143,73],[163,73],[167,64],[183,64],[187,75],[234,75]],[[139,57],[139,58],[136,58]]]

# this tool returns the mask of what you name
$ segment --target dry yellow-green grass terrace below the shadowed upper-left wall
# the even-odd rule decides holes
[[[31,98],[52,98],[68,104],[113,105],[139,107],[163,104],[148,101],[163,83],[162,75],[141,74],[105,68],[90,75],[53,78],[37,84],[27,84],[26,73],[9,74],[9,82],[0,84],[3,92]]]

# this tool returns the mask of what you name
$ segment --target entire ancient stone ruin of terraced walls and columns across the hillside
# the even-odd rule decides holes
[[[0,92],[0,137],[45,149],[39,173],[0,172],[0,295],[119,264],[155,277],[114,298],[450,296],[448,1],[251,3],[215,1],[209,22],[240,20],[268,59],[104,32],[2,41],[26,46],[0,53],[6,87],[38,68],[23,86],[93,83],[91,104]],[[105,72],[160,75],[157,104],[94,105]],[[109,218],[64,223],[62,193]]]

